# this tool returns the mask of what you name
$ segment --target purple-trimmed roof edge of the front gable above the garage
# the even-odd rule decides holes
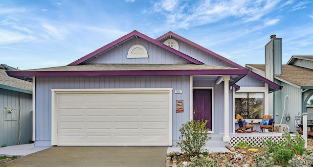
[[[108,44],[108,45],[106,45],[106,46],[104,46],[102,48],[99,48],[99,49],[97,49],[97,50],[87,54],[86,56],[84,56],[84,57],[82,57],[82,58],[80,58],[80,59],[78,59],[78,60],[68,64],[68,66],[80,65],[84,61],[92,58],[93,56],[96,56],[97,54],[99,54],[99,53],[101,53],[101,52],[103,52],[103,51],[105,51],[107,49],[118,47],[121,43],[125,42],[126,40],[128,40],[129,38],[132,38],[132,37],[136,37],[136,38],[139,37],[139,38],[145,39],[145,40],[155,44],[156,46],[158,46],[160,48],[163,48],[165,50],[168,50],[168,51],[170,51],[170,52],[172,52],[172,53],[174,53],[174,54],[176,54],[176,55],[178,55],[178,56],[180,56],[180,57],[182,57],[182,58],[184,58],[186,60],[189,60],[189,61],[191,61],[191,62],[193,62],[195,64],[203,64],[199,60],[196,60],[196,59],[194,59],[194,58],[192,58],[192,57],[190,57],[190,56],[188,56],[188,55],[186,55],[184,53],[181,53],[178,50],[175,50],[174,48],[170,48],[170,47],[168,47],[168,46],[166,46],[166,45],[156,41],[155,39],[150,38],[150,37],[148,37],[148,36],[138,32],[138,31],[134,30],[133,32],[131,32],[131,33],[129,33],[129,34],[127,34],[127,35],[125,35],[125,36],[123,36],[123,37],[113,41],[113,42],[111,42],[110,44]]]

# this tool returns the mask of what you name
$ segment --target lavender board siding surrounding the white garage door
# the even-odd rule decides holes
[[[173,141],[190,119],[190,76],[54,76],[36,77],[35,146],[51,145],[51,89],[173,88]],[[181,90],[182,94],[175,94]],[[176,113],[176,100],[184,100],[184,112]]]

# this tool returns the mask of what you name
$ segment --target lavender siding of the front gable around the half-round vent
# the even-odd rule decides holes
[[[147,49],[149,58],[127,58],[129,48],[139,44]],[[127,43],[123,43],[117,48],[111,49],[105,53],[99,54],[97,58],[90,59],[84,64],[114,64],[114,63],[191,63],[190,61],[179,57],[155,44],[142,38],[133,38]]]

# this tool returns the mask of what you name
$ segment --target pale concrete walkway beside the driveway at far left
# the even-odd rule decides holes
[[[0,156],[25,156],[50,147],[34,147],[34,143],[0,147]]]

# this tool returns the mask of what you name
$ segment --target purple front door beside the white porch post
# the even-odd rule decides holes
[[[212,90],[194,89],[194,120],[208,120],[206,127],[212,129]]]

